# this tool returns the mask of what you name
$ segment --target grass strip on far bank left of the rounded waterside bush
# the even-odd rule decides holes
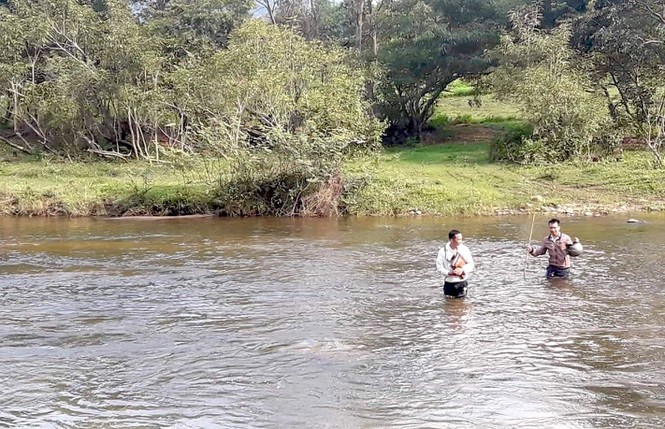
[[[214,167],[210,167],[214,168]],[[0,213],[87,216],[124,207],[137,214],[155,207],[204,211],[215,170],[164,164],[69,163],[23,160],[0,163]]]

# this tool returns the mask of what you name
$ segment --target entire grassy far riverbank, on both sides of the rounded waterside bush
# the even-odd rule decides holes
[[[620,162],[521,167],[489,162],[489,141],[516,121],[516,109],[485,98],[445,97],[440,124],[421,145],[386,150],[345,167],[350,215],[490,215],[533,210],[598,215],[664,210],[665,171],[645,152]],[[442,119],[442,118],[446,119]],[[72,164],[0,162],[0,214],[173,215],[215,212],[222,163],[190,159]]]

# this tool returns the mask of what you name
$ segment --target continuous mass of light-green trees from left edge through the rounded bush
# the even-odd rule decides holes
[[[3,141],[70,156],[207,151],[237,171],[272,166],[270,154],[279,174],[290,163],[317,180],[376,147],[383,125],[363,97],[365,70],[258,20],[229,36],[248,5],[158,2],[139,23],[122,0],[10,1],[0,113],[14,134]]]

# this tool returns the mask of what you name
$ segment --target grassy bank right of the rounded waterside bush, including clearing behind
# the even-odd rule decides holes
[[[497,131],[520,123],[519,109],[490,95],[442,97],[435,130],[423,144],[388,150],[372,170],[370,185],[349,202],[358,215],[520,213],[558,207],[603,214],[623,207],[665,208],[665,171],[651,155],[626,152],[621,162],[516,166],[489,162]],[[349,175],[360,175],[360,164]]]

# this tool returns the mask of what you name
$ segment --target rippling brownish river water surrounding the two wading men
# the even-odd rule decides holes
[[[0,428],[660,429],[665,216],[633,217],[563,218],[560,281],[527,216],[1,218]]]

